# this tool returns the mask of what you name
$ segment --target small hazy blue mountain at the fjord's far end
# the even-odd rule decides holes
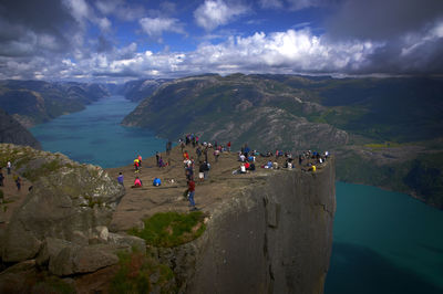
[[[151,96],[162,84],[171,80],[137,80],[126,82],[119,91],[121,95],[133,102],[142,101]]]

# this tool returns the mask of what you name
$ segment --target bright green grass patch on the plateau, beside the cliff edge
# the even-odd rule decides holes
[[[204,218],[202,211],[161,212],[145,219],[143,230],[134,228],[128,233],[146,240],[150,245],[173,248],[200,237],[206,230]]]

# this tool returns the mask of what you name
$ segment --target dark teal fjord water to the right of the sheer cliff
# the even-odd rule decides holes
[[[371,186],[337,182],[326,293],[443,293],[443,212]]]

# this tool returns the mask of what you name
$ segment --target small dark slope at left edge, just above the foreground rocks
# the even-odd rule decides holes
[[[0,143],[31,146],[41,149],[40,143],[12,116],[0,108]]]

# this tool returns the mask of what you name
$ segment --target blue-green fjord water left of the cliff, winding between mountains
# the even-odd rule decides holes
[[[82,112],[38,125],[31,133],[44,150],[60,151],[75,161],[104,168],[125,166],[138,154],[150,157],[166,146],[166,140],[152,132],[120,125],[135,106],[123,96],[111,96]]]

